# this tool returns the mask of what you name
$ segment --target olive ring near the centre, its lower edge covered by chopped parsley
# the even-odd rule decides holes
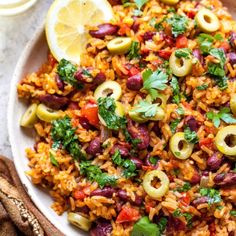
[[[94,97],[98,100],[100,97],[104,98],[109,96],[115,100],[118,100],[121,97],[121,94],[121,86],[116,81],[108,80],[96,88]]]

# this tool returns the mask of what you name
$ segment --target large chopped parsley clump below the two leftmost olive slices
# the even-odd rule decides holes
[[[52,122],[51,137],[54,142],[53,149],[57,149],[62,145],[75,160],[85,159],[85,154],[81,151],[78,138],[75,135],[75,128],[72,127],[68,116]]]

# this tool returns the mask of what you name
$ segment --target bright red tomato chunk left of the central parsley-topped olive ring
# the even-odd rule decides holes
[[[99,123],[98,105],[96,103],[87,103],[81,109],[81,116],[87,118],[91,125],[97,126]]]

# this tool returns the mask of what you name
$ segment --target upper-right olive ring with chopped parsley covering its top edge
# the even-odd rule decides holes
[[[175,56],[175,51],[172,52],[169,63],[173,74],[178,77],[186,76],[192,70],[192,58],[178,58]]]

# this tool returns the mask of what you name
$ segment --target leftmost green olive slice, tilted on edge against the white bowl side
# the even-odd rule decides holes
[[[36,115],[37,107],[38,107],[37,104],[32,104],[28,107],[28,109],[23,114],[20,120],[20,125],[22,127],[26,127],[26,128],[33,127],[33,125],[36,123],[38,119]]]

